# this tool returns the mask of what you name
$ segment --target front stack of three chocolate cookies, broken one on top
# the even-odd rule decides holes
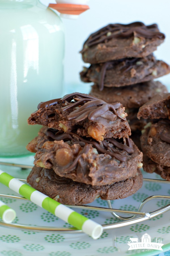
[[[143,154],[129,139],[124,110],[120,103],[81,93],[41,102],[28,119],[43,125],[27,145],[36,153],[28,183],[69,205],[135,193],[143,182]]]

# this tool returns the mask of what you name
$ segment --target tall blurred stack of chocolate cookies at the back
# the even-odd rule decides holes
[[[81,51],[84,62],[91,64],[80,72],[82,81],[94,82],[90,95],[123,104],[131,138],[139,147],[146,125],[146,120],[137,119],[139,107],[152,96],[167,92],[164,85],[153,81],[170,72],[169,65],[153,56],[164,39],[156,24],[109,24],[90,35]]]

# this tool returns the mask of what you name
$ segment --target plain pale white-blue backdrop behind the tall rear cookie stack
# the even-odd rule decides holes
[[[80,0],[81,1],[81,0]],[[48,0],[41,0],[48,5]],[[50,3],[55,3],[54,0]],[[83,66],[79,51],[86,38],[109,23],[131,23],[142,21],[146,25],[157,23],[165,33],[163,44],[155,51],[155,56],[170,64],[170,1],[169,0],[90,0],[90,10],[80,14],[77,20],[62,19],[65,26],[65,86],[80,85],[80,92],[87,92],[89,84],[82,83],[79,72]],[[170,91],[170,75],[158,79]]]

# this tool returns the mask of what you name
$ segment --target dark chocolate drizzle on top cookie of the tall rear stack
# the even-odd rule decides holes
[[[165,35],[158,31],[158,26],[156,24],[145,26],[143,22],[133,22],[130,24],[109,24],[91,34],[84,45],[91,47],[112,38],[131,37],[134,32],[145,38],[158,37],[159,39],[165,39]],[[85,51],[86,49],[83,50]]]

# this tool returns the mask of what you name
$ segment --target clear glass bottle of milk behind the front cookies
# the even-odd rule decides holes
[[[27,118],[62,96],[64,32],[37,0],[0,0],[0,157],[24,156],[39,125]]]

